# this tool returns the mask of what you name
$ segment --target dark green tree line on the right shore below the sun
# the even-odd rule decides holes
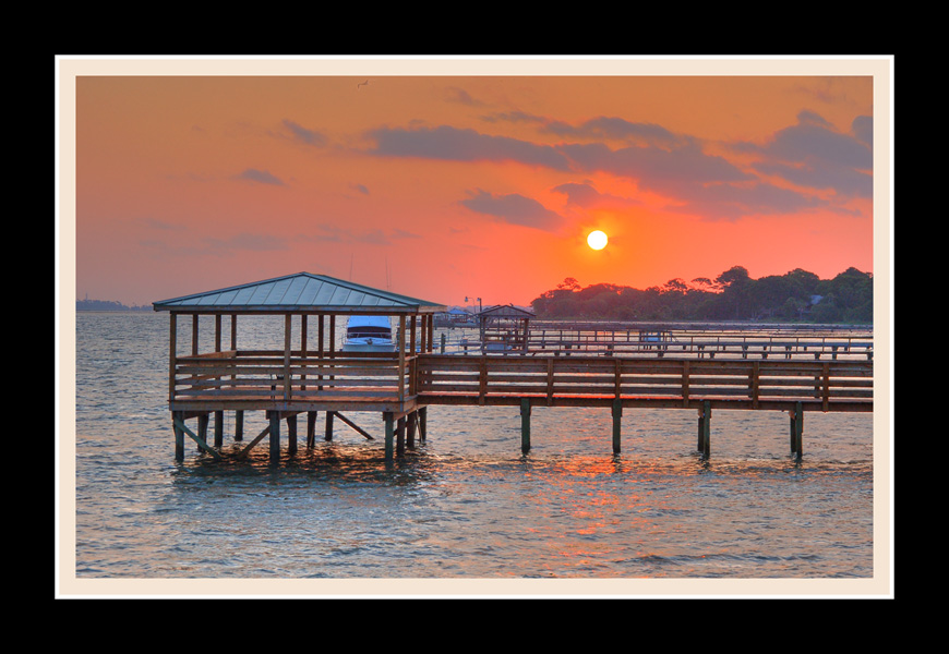
[[[848,268],[833,279],[796,268],[752,279],[734,266],[714,279],[671,279],[646,290],[586,288],[573,277],[531,302],[540,318],[757,320],[873,324],[873,274]]]

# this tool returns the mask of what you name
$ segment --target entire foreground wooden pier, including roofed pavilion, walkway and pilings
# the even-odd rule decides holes
[[[395,295],[325,276],[300,274],[155,303],[170,313],[168,401],[176,437],[176,459],[190,437],[213,457],[223,457],[223,416],[235,413],[235,440],[243,443],[244,413],[263,411],[267,426],[240,448],[245,457],[265,438],[272,461],[279,461],[281,425],[287,453],[297,452],[297,421],[305,416],[305,443],[315,443],[320,412],[332,438],[339,419],[364,438],[374,436],[347,414],[381,413],[386,460],[427,437],[429,407],[509,405],[521,415],[521,451],[530,450],[530,413],[534,407],[601,407],[612,416],[612,451],[622,445],[625,409],[666,408],[696,411],[696,448],[710,456],[714,410],[783,411],[790,417],[792,455],[803,455],[805,412],[872,412],[872,358],[843,361],[748,358],[658,358],[637,355],[566,356],[557,350],[534,355],[436,354],[435,303]],[[395,353],[339,352],[334,317],[355,313],[398,319]],[[197,318],[213,315],[214,349],[200,352]],[[284,317],[281,350],[237,347],[242,314]],[[191,317],[191,353],[179,353],[178,331]],[[230,347],[221,343],[221,322],[231,322]],[[326,319],[328,318],[328,329]],[[299,343],[291,342],[299,320]],[[308,320],[316,323],[316,343],[308,341]],[[328,338],[327,338],[328,337]],[[208,438],[214,417],[214,440]],[[189,426],[188,421],[196,421]]]

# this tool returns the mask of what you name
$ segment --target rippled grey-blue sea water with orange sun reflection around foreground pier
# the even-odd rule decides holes
[[[279,347],[281,329],[242,323],[238,344]],[[518,409],[432,407],[428,441],[389,465],[370,413],[350,417],[375,440],[336,421],[278,468],[266,443],[217,462],[190,439],[176,463],[167,315],[80,313],[75,336],[79,580],[874,574],[869,414],[808,413],[802,462],[778,412],[717,411],[702,461],[690,410],[625,411],[614,456],[609,410],[536,409],[521,456]],[[235,444],[232,421],[228,449],[265,426],[248,415]]]

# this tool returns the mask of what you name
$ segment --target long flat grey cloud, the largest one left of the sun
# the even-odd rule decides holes
[[[567,158],[549,145],[507,136],[480,134],[448,125],[415,130],[383,128],[370,136],[372,154],[384,157],[421,157],[448,161],[518,161],[553,170],[568,170]]]

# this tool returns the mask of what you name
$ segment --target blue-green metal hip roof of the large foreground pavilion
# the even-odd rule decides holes
[[[298,272],[242,286],[153,302],[155,311],[187,313],[326,312],[436,313],[446,306],[327,277]]]

